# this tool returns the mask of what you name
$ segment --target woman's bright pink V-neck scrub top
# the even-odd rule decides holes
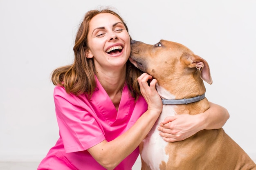
[[[60,138],[38,170],[106,170],[87,149],[104,139],[117,138],[147,110],[144,98],[135,102],[125,86],[117,111],[98,79],[91,99],[87,95],[67,94],[63,87],[56,86],[54,102]],[[138,155],[137,147],[115,170],[131,170]]]

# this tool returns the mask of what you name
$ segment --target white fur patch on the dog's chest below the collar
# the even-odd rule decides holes
[[[141,157],[151,170],[159,170],[159,165],[162,161],[167,162],[169,159],[169,156],[165,151],[168,142],[162,139],[157,128],[164,118],[173,115],[175,115],[174,106],[164,105],[161,115],[148,133],[148,136],[143,140],[144,145],[143,150],[141,151]]]

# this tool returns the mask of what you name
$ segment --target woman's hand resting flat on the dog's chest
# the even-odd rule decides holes
[[[160,123],[159,135],[167,142],[182,141],[204,129],[198,115],[169,116]]]

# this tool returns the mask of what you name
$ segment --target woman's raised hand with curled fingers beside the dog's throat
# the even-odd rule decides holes
[[[147,73],[143,73],[142,75],[140,75],[138,77],[139,87],[142,96],[148,104],[148,110],[152,110],[154,111],[153,113],[160,114],[163,108],[162,99],[160,98],[155,88],[157,80],[152,78],[153,77],[151,75],[148,75]],[[148,80],[151,81],[149,86]]]

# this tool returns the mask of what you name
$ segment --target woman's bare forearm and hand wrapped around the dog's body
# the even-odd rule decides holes
[[[227,109],[210,102],[210,108],[204,113],[166,117],[158,130],[159,135],[167,142],[182,141],[203,129],[222,128],[227,119],[229,119]]]

